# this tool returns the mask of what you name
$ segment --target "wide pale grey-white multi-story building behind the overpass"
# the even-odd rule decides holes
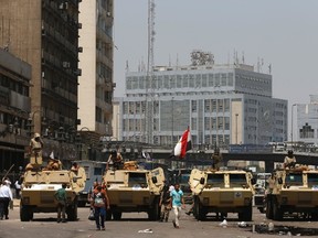
[[[161,145],[176,144],[188,126],[192,143],[210,148],[285,141],[287,101],[273,98],[272,80],[245,64],[127,72],[114,129],[120,140]]]

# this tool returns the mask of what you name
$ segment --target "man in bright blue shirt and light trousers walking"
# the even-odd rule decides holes
[[[180,185],[176,184],[174,190],[170,193],[171,207],[174,213],[174,219],[172,220],[174,228],[179,228],[179,219],[181,216],[181,207],[186,208],[186,204],[183,201],[183,192],[180,190]]]

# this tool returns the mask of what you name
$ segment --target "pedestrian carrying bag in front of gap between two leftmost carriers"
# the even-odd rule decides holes
[[[109,209],[109,199],[102,185],[98,185],[94,191],[91,207],[94,209],[96,229],[105,230],[106,209]]]

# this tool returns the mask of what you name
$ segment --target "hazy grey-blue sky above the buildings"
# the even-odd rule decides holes
[[[157,0],[155,65],[190,64],[190,53],[214,54],[215,64],[233,53],[263,73],[272,64],[273,95],[293,104],[318,94],[317,0]],[[147,63],[148,0],[115,0],[115,96],[125,93],[125,67]]]

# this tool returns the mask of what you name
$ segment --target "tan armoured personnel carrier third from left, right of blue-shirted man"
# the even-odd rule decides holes
[[[237,213],[240,220],[252,220],[254,195],[253,175],[246,171],[200,171],[193,169],[189,184],[192,191],[194,217],[206,218],[209,213]]]

